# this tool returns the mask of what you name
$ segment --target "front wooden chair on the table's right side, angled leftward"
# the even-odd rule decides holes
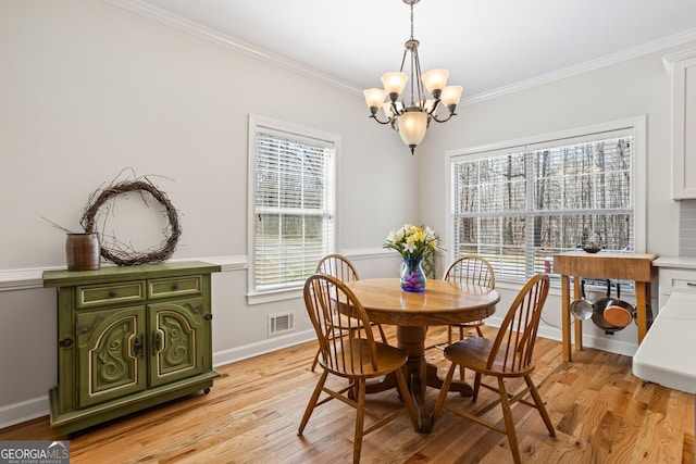
[[[537,274],[532,277],[520,290],[512,302],[508,314],[502,321],[495,340],[482,337],[469,337],[445,348],[445,358],[451,361],[447,376],[443,384],[439,397],[433,410],[433,423],[445,406],[445,400],[452,381],[455,368],[459,365],[476,373],[474,379],[474,391],[472,401],[476,401],[481,387],[499,393],[499,398],[477,410],[476,415],[467,411],[445,406],[470,421],[484,425],[493,430],[497,430],[508,436],[510,450],[515,463],[521,462],[518,437],[514,431],[514,418],[510,406],[521,402],[532,407],[536,407],[551,437],[556,437],[556,430],[551,419],[544,406],[542,397],[536,386],[532,381],[534,372],[534,343],[536,333],[542,317],[544,302],[548,296],[549,278],[545,274]],[[498,379],[497,388],[482,383],[482,377],[493,376]],[[506,390],[505,380],[510,378],[523,378],[526,387],[522,391],[510,394]],[[533,402],[523,400],[531,393]],[[482,416],[495,407],[497,404],[502,407],[505,428],[483,419]]]

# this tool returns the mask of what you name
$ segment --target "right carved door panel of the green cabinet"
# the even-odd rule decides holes
[[[150,386],[169,384],[210,368],[206,340],[210,322],[202,298],[148,305],[150,327]]]

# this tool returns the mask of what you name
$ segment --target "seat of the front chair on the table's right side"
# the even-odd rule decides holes
[[[496,360],[490,368],[487,367],[488,356],[493,350],[495,340],[490,340],[482,337],[465,338],[457,343],[450,344],[445,348],[445,358],[453,363],[480,372],[485,375],[496,375],[502,377],[520,377],[521,375],[532,373],[534,371],[534,362],[522,369],[511,371],[508,366],[505,366],[505,354],[507,352],[507,344],[502,343],[497,351]]]

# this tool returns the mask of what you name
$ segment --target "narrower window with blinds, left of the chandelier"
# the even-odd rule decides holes
[[[338,137],[250,116],[249,145],[250,293],[297,293],[334,250]]]

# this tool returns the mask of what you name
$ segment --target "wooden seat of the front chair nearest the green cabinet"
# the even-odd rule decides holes
[[[352,351],[352,355],[343,353],[340,349],[332,350],[332,353],[336,353],[336,356],[332,358],[337,360],[340,364],[328,365],[323,359],[322,353],[319,355],[319,364],[326,371],[340,377],[375,378],[396,371],[403,366],[408,360],[406,352],[398,348],[380,343],[377,341],[374,342],[374,348],[377,358],[376,369],[373,368],[372,363],[370,362],[370,356],[368,355],[370,352],[368,340],[363,338],[350,340],[350,350]],[[360,355],[360,353],[362,353],[362,355]],[[350,360],[352,360],[352,362],[356,362],[356,360],[362,360],[362,364],[351,365]],[[345,361],[348,364],[344,364],[341,361]]]

